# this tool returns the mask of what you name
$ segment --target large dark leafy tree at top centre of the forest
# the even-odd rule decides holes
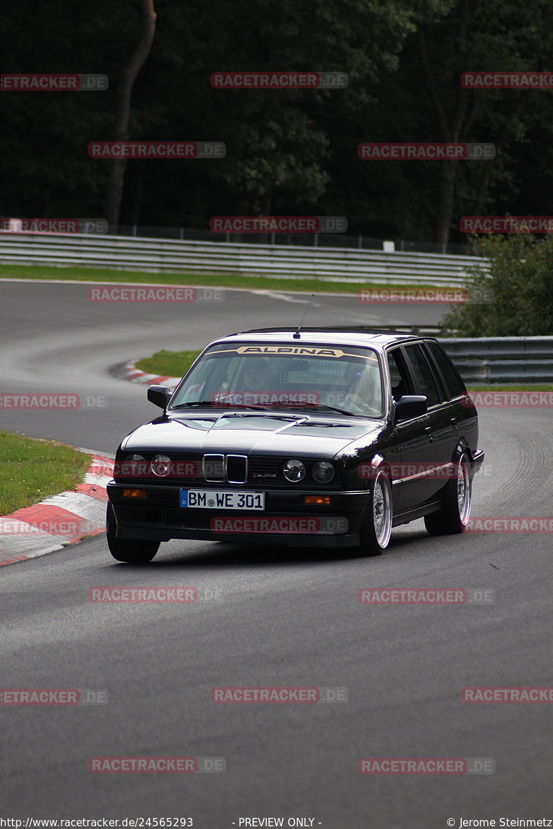
[[[377,0],[237,0],[221,4],[216,15],[210,7],[192,18],[180,7],[170,14],[187,53],[186,65],[175,56],[172,94],[186,80],[188,102],[202,116],[196,123],[213,124],[227,143],[226,159],[210,164],[207,175],[223,186],[226,203],[232,194],[230,211],[321,211],[329,160],[339,166],[350,155],[357,159],[347,128],[335,140],[336,128],[356,114],[365,119],[363,109],[375,99],[371,89],[397,65],[405,36],[415,31],[411,0],[385,6]],[[240,69],[342,70],[350,85],[341,91],[210,88],[211,71]]]

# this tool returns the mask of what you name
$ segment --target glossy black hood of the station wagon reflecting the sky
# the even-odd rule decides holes
[[[124,439],[124,452],[193,452],[309,455],[333,458],[348,444],[380,431],[382,420],[325,414],[252,412],[171,417],[139,426]]]

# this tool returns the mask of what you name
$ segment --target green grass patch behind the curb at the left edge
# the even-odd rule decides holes
[[[89,466],[78,449],[0,431],[0,516],[75,489]]]

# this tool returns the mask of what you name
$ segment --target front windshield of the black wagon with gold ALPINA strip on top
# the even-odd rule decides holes
[[[371,348],[226,342],[201,356],[170,409],[319,410],[378,417],[382,383]]]

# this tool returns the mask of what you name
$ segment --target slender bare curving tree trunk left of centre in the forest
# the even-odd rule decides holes
[[[140,33],[140,39],[134,48],[129,63],[125,66],[119,78],[117,112],[115,114],[113,135],[114,141],[129,140],[129,115],[133,85],[138,72],[142,69],[150,54],[153,35],[156,31],[156,17],[158,16],[153,7],[153,0],[140,0],[140,5],[142,12],[142,32]],[[104,216],[108,221],[108,232],[116,233],[119,225],[127,159],[113,158],[107,163],[109,164],[109,174],[104,201]]]

